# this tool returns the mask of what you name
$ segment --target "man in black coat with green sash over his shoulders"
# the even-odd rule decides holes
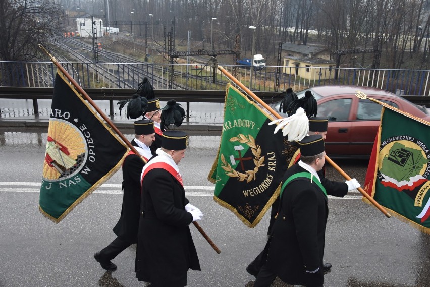
[[[317,171],[325,163],[321,135],[299,142],[301,159],[283,178],[280,207],[263,252],[254,287],[268,287],[278,276],[287,284],[322,287],[327,192]]]

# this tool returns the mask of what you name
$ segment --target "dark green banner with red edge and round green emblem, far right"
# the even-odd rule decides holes
[[[430,233],[430,126],[383,108],[365,190],[397,217]]]

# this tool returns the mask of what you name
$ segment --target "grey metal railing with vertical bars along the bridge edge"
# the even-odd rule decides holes
[[[155,89],[224,91],[229,81],[209,64],[62,63],[83,88],[136,89],[148,77]],[[249,86],[247,66],[223,65]],[[277,73],[277,71],[279,71]],[[0,86],[53,87],[51,62],[0,62]],[[430,96],[430,70],[266,66],[252,72],[252,90],[295,91],[319,85],[371,86],[397,95]]]

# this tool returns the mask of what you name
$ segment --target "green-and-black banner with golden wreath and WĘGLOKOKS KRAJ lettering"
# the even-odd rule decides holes
[[[231,85],[227,86],[218,155],[208,180],[214,200],[255,227],[279,196],[280,184],[298,148],[281,132],[275,118]]]

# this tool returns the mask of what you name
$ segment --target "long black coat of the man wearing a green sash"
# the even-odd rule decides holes
[[[306,171],[295,164],[285,173]],[[329,209],[327,197],[309,179],[296,179],[285,188],[280,211],[267,242],[266,266],[288,284],[323,285],[323,255]],[[316,273],[309,271],[319,270]]]

